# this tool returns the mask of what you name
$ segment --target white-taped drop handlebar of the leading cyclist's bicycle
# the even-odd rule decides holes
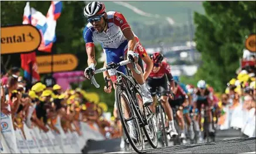
[[[141,74],[141,71],[139,71],[137,66],[136,66],[134,58],[131,55],[128,55],[128,57],[129,57],[129,60],[123,60],[123,61],[120,61],[120,63],[117,63],[117,64],[111,63],[107,67],[103,67],[101,69],[95,70],[93,73],[89,73],[90,78],[91,78],[91,83],[93,83],[96,88],[100,88],[100,85],[98,85],[97,81],[94,78],[94,74],[102,73],[103,71],[107,71],[107,70],[110,70],[110,69],[117,69],[119,66],[124,66],[124,65],[129,64],[129,63],[131,63],[132,67],[134,67],[135,73]]]

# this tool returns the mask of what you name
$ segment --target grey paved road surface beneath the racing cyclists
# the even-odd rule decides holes
[[[230,129],[219,131],[216,134],[216,142],[197,143],[196,145],[185,144],[173,146],[169,143],[169,147],[157,149],[145,149],[145,153],[247,153],[255,152],[255,138],[244,138],[240,131]],[[97,145],[95,147],[95,145]],[[104,145],[104,148],[100,148]],[[134,150],[120,151],[120,139],[101,141],[91,144],[87,148],[86,153],[135,153]],[[93,148],[93,146],[95,148]],[[149,146],[146,146],[146,148]]]

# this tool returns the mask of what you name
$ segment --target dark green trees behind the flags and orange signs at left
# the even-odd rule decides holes
[[[3,1],[1,2],[1,26],[21,25],[23,19],[23,11],[26,1]],[[52,52],[54,54],[73,53],[78,57],[78,66],[76,70],[84,70],[87,67],[87,54],[85,43],[83,40],[83,29],[87,20],[83,15],[83,8],[86,4],[83,1],[63,1],[62,14],[57,19],[56,26],[56,43],[54,43]],[[50,7],[50,1],[31,1],[30,7],[46,16]],[[10,9],[12,8],[12,9]],[[95,47],[96,59],[100,58],[102,49],[100,46]],[[36,52],[37,55],[45,55],[49,53]],[[9,61],[9,62],[8,62]],[[7,63],[8,62],[8,63]],[[5,69],[12,66],[21,67],[20,54],[4,54],[1,55],[1,68],[3,64]],[[103,63],[98,61],[97,68],[102,67]],[[41,75],[43,77],[45,74]],[[83,89],[86,91],[94,91],[100,95],[100,100],[108,104],[108,108],[112,111],[114,107],[114,93],[104,93],[104,79],[102,74],[95,76],[100,88],[95,88],[90,81],[83,82]],[[76,84],[74,84],[76,85]],[[78,85],[76,85],[77,87]],[[74,88],[74,87],[73,87]],[[107,101],[106,101],[107,100]]]

